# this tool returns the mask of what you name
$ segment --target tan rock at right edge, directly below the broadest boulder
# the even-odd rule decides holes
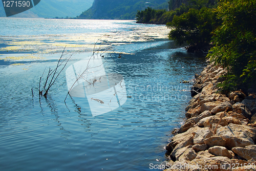
[[[251,160],[252,158],[256,159],[256,145],[233,147],[232,151],[246,160]]]

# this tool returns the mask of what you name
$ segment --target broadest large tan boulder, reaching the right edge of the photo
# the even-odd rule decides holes
[[[226,141],[228,149],[232,149],[232,147],[254,145],[256,130],[250,126],[230,123],[218,129],[216,135],[221,136]]]

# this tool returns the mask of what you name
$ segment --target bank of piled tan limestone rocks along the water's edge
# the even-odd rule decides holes
[[[256,91],[221,94],[216,84],[226,72],[211,64],[195,75],[187,119],[166,146],[165,171],[256,170]]]

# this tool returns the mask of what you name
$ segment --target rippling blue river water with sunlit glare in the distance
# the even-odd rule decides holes
[[[165,26],[0,18],[0,30],[1,170],[151,170],[166,160],[164,146],[190,100],[191,83],[182,80],[191,81],[205,63],[169,41]],[[39,96],[40,77],[64,49],[70,61],[47,98]],[[64,102],[68,68],[95,50],[104,73],[122,75],[126,93],[108,112],[91,100],[99,115],[90,108],[93,98]]]

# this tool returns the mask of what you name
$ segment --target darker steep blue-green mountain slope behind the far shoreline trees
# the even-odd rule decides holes
[[[93,5],[78,18],[135,19],[137,10],[147,7],[168,9],[169,0],[94,0]]]

